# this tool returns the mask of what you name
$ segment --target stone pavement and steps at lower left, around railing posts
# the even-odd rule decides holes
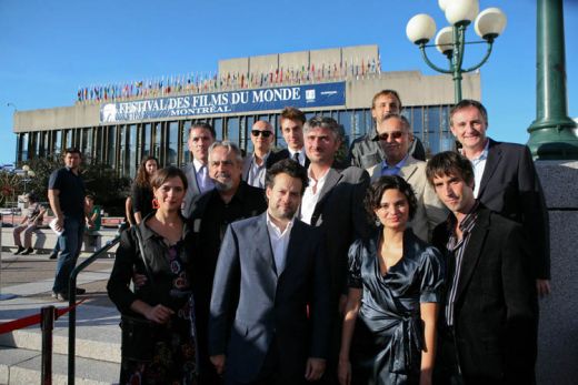
[[[4,249],[0,265],[0,324],[40,313],[41,307],[68,307],[51,297],[56,260],[47,254],[13,255]],[[84,257],[80,257],[81,263]],[[76,384],[114,384],[120,373],[120,316],[107,295],[113,259],[99,259],[78,276],[87,290],[77,300]],[[52,383],[66,384],[68,373],[68,314],[53,330]],[[41,381],[39,325],[0,335],[0,384]]]

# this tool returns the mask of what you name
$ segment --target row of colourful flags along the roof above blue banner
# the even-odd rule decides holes
[[[162,77],[153,80],[139,80],[119,84],[91,85],[79,88],[78,103],[102,101],[122,101],[128,99],[163,97],[172,93],[207,93],[250,88],[275,87],[283,84],[307,84],[343,80],[363,79],[380,74],[379,58],[360,62],[343,60],[339,64],[311,64],[309,68],[278,68],[261,73],[197,73],[176,77]]]

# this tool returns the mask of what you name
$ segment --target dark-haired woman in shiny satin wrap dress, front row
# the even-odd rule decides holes
[[[349,250],[339,382],[431,384],[441,254],[407,227],[417,202],[403,179],[381,176],[365,205],[379,227]]]

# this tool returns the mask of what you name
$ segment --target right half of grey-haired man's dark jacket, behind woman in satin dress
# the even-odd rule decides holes
[[[311,225],[321,227],[326,234],[333,300],[347,293],[349,246],[356,239],[371,233],[363,209],[368,185],[369,175],[365,170],[333,164],[311,215]]]

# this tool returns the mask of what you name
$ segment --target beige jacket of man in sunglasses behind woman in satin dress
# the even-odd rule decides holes
[[[418,207],[409,226],[419,239],[429,242],[434,229],[448,217],[449,211],[439,201],[436,191],[429,184],[426,165],[426,162],[408,156],[406,164],[399,171],[399,176],[411,185],[418,200]],[[371,175],[371,183],[376,182],[381,176],[381,163],[368,169],[367,172]]]

